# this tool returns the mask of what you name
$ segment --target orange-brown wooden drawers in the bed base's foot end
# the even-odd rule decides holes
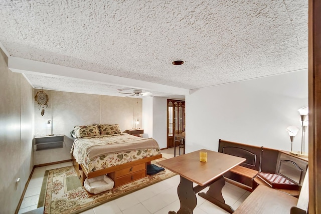
[[[130,183],[146,176],[146,163],[108,173],[108,176],[115,182],[115,187]]]

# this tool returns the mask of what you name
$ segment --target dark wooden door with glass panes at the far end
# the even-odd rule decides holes
[[[168,99],[167,147],[174,147],[174,135],[183,132],[185,132],[185,101]]]

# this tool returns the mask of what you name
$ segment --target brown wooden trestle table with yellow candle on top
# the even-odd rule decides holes
[[[207,162],[200,161],[200,151],[207,152]],[[207,186],[210,186],[209,190],[199,195],[233,213],[233,208],[225,203],[222,195],[222,188],[225,185],[223,174],[245,160],[245,158],[201,149],[157,163],[181,176],[177,189],[181,202],[178,214],[193,213],[197,204],[196,193]],[[198,185],[193,187],[193,182]],[[169,214],[174,213],[176,212],[169,211]]]

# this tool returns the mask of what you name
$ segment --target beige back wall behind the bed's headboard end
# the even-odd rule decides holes
[[[35,90],[35,94],[39,90]],[[49,97],[48,108],[41,116],[41,110],[35,102],[35,135],[47,135],[46,125],[53,121],[53,134],[64,134],[64,148],[35,151],[34,164],[50,163],[71,158],[70,149],[73,140],[70,131],[75,125],[119,124],[121,131],[133,128],[134,114],[142,119],[142,100],[136,98],[71,93],[44,90]],[[141,123],[138,128],[141,128]]]

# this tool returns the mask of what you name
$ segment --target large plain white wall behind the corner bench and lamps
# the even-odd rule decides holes
[[[219,139],[289,151],[285,129],[300,128],[297,109],[307,105],[307,70],[194,90],[186,96],[187,152],[217,151]],[[299,131],[293,150],[300,148]]]

